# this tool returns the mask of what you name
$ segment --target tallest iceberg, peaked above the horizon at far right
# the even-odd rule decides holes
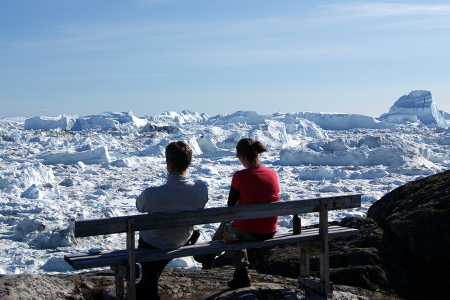
[[[430,91],[411,91],[408,95],[401,96],[389,112],[378,119],[387,123],[405,123],[420,121],[427,127],[448,127],[449,121],[445,112],[437,109],[437,105]]]

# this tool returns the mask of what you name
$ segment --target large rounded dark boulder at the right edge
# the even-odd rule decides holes
[[[367,216],[385,231],[383,241],[398,254],[416,292],[445,292],[442,287],[450,278],[450,170],[402,185],[375,202]]]

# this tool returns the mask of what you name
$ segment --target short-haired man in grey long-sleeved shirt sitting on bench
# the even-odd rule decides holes
[[[207,185],[191,180],[186,169],[192,161],[192,149],[183,141],[172,142],[166,148],[167,183],[146,188],[136,200],[139,212],[181,212],[203,209],[208,201]],[[139,232],[139,248],[171,249],[186,244],[193,226],[143,230]],[[137,299],[160,299],[158,280],[172,259],[141,263],[142,277],[136,285]]]

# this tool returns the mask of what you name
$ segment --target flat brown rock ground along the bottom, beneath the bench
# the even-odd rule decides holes
[[[160,297],[168,299],[324,299],[312,289],[300,289],[297,280],[250,270],[252,286],[229,289],[233,268],[187,270],[166,268],[160,278]],[[114,273],[110,270],[51,276],[0,275],[0,299],[115,299]],[[356,287],[335,286],[330,300],[382,299],[381,294]]]

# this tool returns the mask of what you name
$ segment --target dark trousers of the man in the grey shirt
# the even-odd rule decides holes
[[[156,249],[151,244],[147,244],[141,237],[139,237],[138,247]],[[160,296],[158,296],[158,281],[160,280],[162,270],[164,270],[170,261],[172,259],[141,263],[142,277],[136,285],[137,299],[160,299]]]

